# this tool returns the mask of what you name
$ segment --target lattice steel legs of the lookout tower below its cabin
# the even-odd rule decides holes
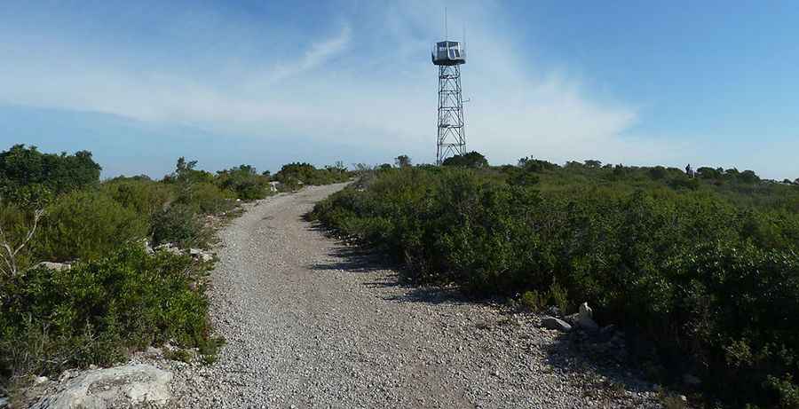
[[[440,165],[450,156],[466,153],[466,121],[458,64],[439,66],[438,124],[436,164]]]

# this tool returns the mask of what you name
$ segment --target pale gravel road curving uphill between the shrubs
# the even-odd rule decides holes
[[[538,318],[399,286],[302,219],[343,187],[259,201],[219,233],[211,315],[227,343],[211,366],[173,368],[177,407],[658,407]]]

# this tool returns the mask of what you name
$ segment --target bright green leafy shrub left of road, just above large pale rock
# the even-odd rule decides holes
[[[174,340],[211,352],[207,301],[193,290],[203,271],[190,257],[147,256],[140,246],[0,281],[0,374],[59,374],[110,365],[129,350]],[[209,350],[209,348],[211,350]]]

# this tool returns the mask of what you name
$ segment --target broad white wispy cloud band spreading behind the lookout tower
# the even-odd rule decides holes
[[[362,147],[347,158],[352,161],[386,151],[431,161],[436,72],[427,47],[442,31],[439,15],[426,2],[364,7],[368,10],[359,13],[360,19],[350,16],[342,28],[333,28],[336,35],[301,43],[281,60],[237,67],[235,75],[221,79],[174,61],[133,70],[83,52],[79,44],[55,54],[47,50],[46,39],[20,44],[39,47],[36,55],[19,48],[11,52],[12,45],[4,44],[0,102],[188,123],[228,134],[302,136],[298,144],[344,141]],[[470,23],[463,87],[472,98],[467,112],[471,148],[494,162],[529,154],[558,161],[656,161],[686,149],[623,137],[638,121],[636,107],[599,101],[566,73],[526,60],[515,48],[518,43],[500,29],[505,22],[497,7],[465,3],[450,14],[453,22]],[[225,68],[236,59],[222,53],[217,60]]]

